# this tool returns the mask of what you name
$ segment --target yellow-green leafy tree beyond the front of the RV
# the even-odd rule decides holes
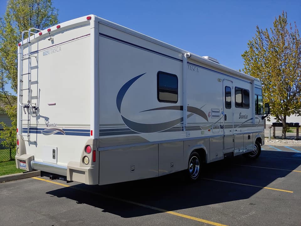
[[[275,18],[273,28],[261,30],[249,40],[243,72],[262,82],[263,99],[271,115],[282,122],[286,137],[287,116],[301,115],[301,40],[296,23],[288,24],[287,13]]]

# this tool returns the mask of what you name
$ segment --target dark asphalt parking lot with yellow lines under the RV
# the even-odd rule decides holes
[[[301,148],[107,186],[35,177],[0,184],[0,225],[301,225]],[[277,148],[277,149],[275,149]],[[109,169],[108,169],[109,170]]]

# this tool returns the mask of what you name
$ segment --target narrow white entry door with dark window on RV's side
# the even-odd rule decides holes
[[[223,112],[224,112],[224,153],[234,151],[233,132],[233,110],[234,110],[233,82],[225,79],[223,81]]]

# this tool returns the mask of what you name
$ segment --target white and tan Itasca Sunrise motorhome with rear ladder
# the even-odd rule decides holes
[[[29,38],[27,34],[30,34]],[[261,82],[94,15],[18,44],[17,168],[104,185],[264,144]]]

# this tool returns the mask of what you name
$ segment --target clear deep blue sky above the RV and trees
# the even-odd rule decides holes
[[[59,21],[95,14],[171,45],[212,56],[223,65],[243,68],[241,54],[260,28],[270,28],[282,11],[301,30],[300,0],[192,1],[53,0]],[[6,0],[0,0],[4,14]],[[300,33],[300,32],[299,32]]]

